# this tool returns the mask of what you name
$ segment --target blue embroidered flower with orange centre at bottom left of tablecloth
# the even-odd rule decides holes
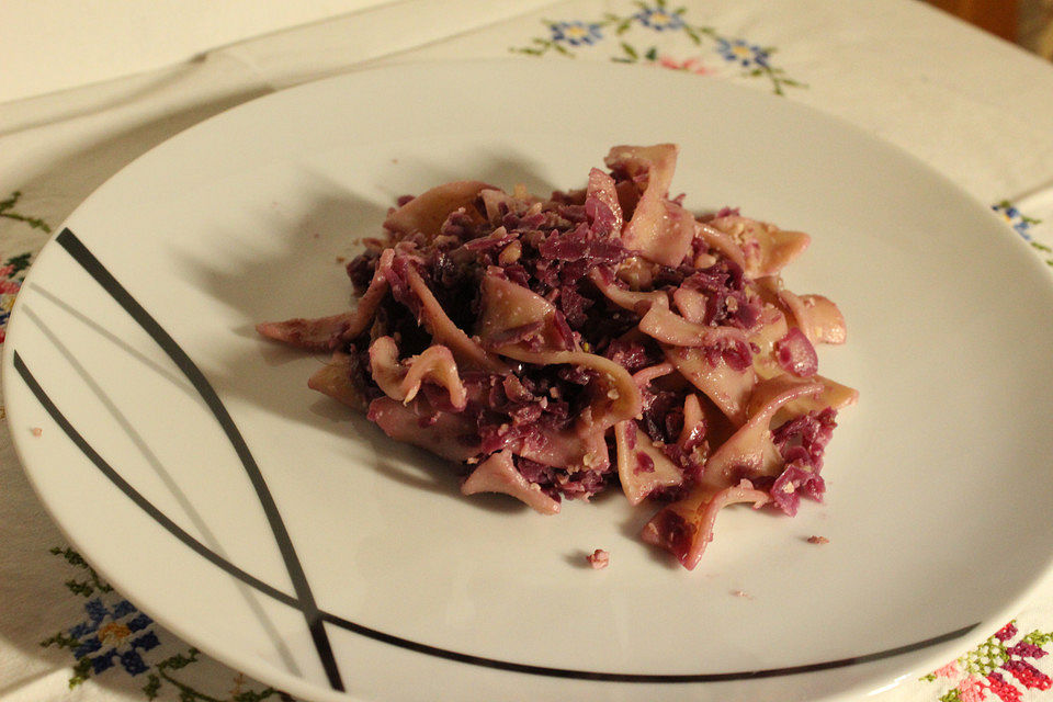
[[[127,600],[111,609],[94,598],[84,603],[84,613],[88,618],[69,630],[70,638],[79,643],[72,653],[80,666],[90,667],[92,675],[117,664],[131,676],[148,670],[140,654],[161,643],[149,629],[154,620]]]

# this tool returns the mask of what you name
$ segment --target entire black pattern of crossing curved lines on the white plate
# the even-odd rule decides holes
[[[260,499],[264,503],[264,510],[268,510],[268,503],[270,505],[270,510],[268,511],[268,518],[270,519],[273,512],[275,522],[272,521],[272,528],[275,529],[275,537],[279,540],[279,545],[283,545],[283,539],[287,544],[288,553],[291,554],[293,561],[293,566],[290,566],[291,577],[294,573],[298,573],[299,577],[303,579],[302,585],[306,589],[307,596],[310,598],[310,590],[307,587],[306,578],[303,573],[303,568],[299,566],[298,559],[295,558],[295,553],[292,551],[292,543],[288,540],[288,534],[285,532],[284,524],[281,521],[281,517],[278,514],[276,506],[271,499],[270,492],[267,489],[265,484],[263,483],[262,475],[259,473],[259,467],[256,465],[254,460],[251,454],[248,452],[248,446],[245,444],[245,440],[241,438],[240,432],[234,424],[234,421],[230,419],[229,415],[226,411],[226,408],[223,406],[218,396],[215,394],[215,390],[205,380],[204,375],[193,363],[193,361],[185,354],[185,352],[176,343],[176,341],[168,336],[168,333],[157,324],[157,321],[128,294],[128,292],[105,270],[105,268],[91,254],[90,251],[83,246],[83,244],[70,231],[69,229],[64,229],[61,234],[57,237],[57,240],[60,242],[63,248],[65,248],[70,256],[80,263],[84,270],[99,282],[100,285],[122,307],[149,333],[154,340],[169,354],[173,362],[180,367],[180,370],[186,375],[188,380],[193,383],[195,389],[202,395],[202,398],[206,401],[210,409],[212,409],[216,419],[219,421],[220,426],[227,432],[227,437],[234,444],[236,451],[238,451],[239,457],[241,457],[242,463],[246,464],[246,469],[249,473],[249,476],[253,479],[253,486],[257,486],[258,494],[260,494]],[[305,601],[301,598],[290,597],[281,590],[263,582],[259,578],[253,577],[252,575],[241,570],[237,566],[230,564],[228,561],[210,550],[207,546],[199,542],[196,539],[191,536],[189,533],[183,531],[178,524],[176,524],[171,519],[165,516],[158,508],[156,508],[149,500],[147,500],[143,495],[140,495],[132,485],[127,483],[121,475],[109,464],[106,461],[95,452],[94,449],[88,443],[88,441],[73,428],[69,420],[63,415],[47,393],[41,387],[39,383],[30,372],[25,362],[22,360],[21,354],[18,351],[13,355],[14,369],[25,382],[26,386],[36,397],[37,401],[44,407],[48,412],[52,419],[59,426],[59,428],[66,433],[66,435],[73,442],[73,444],[88,457],[102,473],[106,476],[118,489],[121,489],[136,506],[138,506],[143,511],[149,514],[155,521],[158,522],[161,526],[168,530],[172,535],[182,541],[186,546],[193,550],[195,553],[200,554],[202,557],[207,559],[210,563],[222,568],[224,571],[229,575],[238,578],[246,585],[249,585],[260,592],[268,595],[275,600],[287,604],[294,609],[298,609],[304,612],[305,618],[307,618],[307,623],[312,633],[312,637],[315,642],[315,646],[318,649],[319,657],[322,660],[322,665],[326,668],[326,673],[329,677],[330,684],[337,690],[343,690],[343,684],[340,680],[340,673],[337,668],[336,659],[332,655],[332,649],[329,644],[329,638],[325,632],[325,624],[329,623],[340,629],[350,631],[352,633],[372,638],[374,641],[388,644],[392,646],[397,646],[407,650],[412,650],[428,656],[433,656],[437,658],[443,658],[446,660],[453,660],[457,663],[463,663],[467,665],[480,666],[485,668],[492,668],[497,670],[507,670],[510,672],[521,672],[526,675],[536,675],[551,678],[568,678],[577,680],[597,680],[597,681],[607,681],[607,682],[664,682],[664,683],[677,683],[677,682],[725,682],[734,680],[750,680],[750,679],[760,679],[760,678],[773,678],[780,676],[791,676],[800,675],[805,672],[817,672],[823,670],[833,670],[836,668],[845,668],[853,665],[861,665],[865,663],[873,663],[875,660],[881,660],[884,658],[891,658],[893,656],[899,656],[903,654],[908,654],[915,650],[920,650],[922,648],[928,648],[930,646],[936,646],[938,644],[953,641],[955,638],[965,636],[973,630],[975,630],[980,624],[970,624],[969,626],[963,626],[961,629],[954,630],[947,634],[941,634],[939,636],[933,636],[931,638],[926,638],[924,641],[915,642],[913,644],[907,644],[905,646],[897,646],[894,648],[886,648],[872,654],[865,654],[862,656],[851,656],[848,658],[839,658],[836,660],[827,660],[816,664],[807,664],[802,666],[788,666],[782,668],[768,668],[761,670],[745,670],[738,672],[703,672],[703,673],[623,673],[623,672],[602,672],[602,671],[590,671],[590,670],[575,670],[570,668],[552,668],[547,666],[533,666],[528,664],[519,664],[507,660],[498,660],[496,658],[486,658],[482,656],[475,656],[472,654],[463,654],[455,650],[449,650],[445,648],[440,648],[438,646],[431,646],[429,644],[421,644],[408,638],[403,638],[395,636],[393,634],[385,634],[375,629],[370,629],[361,624],[355,624],[347,619],[331,614],[329,612],[321,611],[317,608],[317,604],[314,602],[314,599],[309,599],[310,607],[305,607]],[[250,467],[251,466],[251,467]],[[259,482],[259,483],[258,483]],[[265,498],[264,498],[265,496]],[[282,534],[281,536],[279,534]],[[283,555],[286,552],[283,550]],[[293,578],[294,586],[296,585],[296,578]],[[297,587],[297,593],[301,593],[299,588]]]

